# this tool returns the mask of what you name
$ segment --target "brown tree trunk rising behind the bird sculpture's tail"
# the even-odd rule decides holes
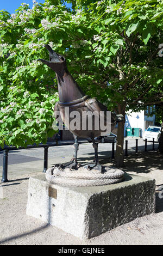
[[[118,123],[115,165],[116,165],[116,167],[123,167],[124,166],[124,163],[123,163],[123,160],[124,160],[123,144],[124,144],[125,111],[120,111],[119,110],[118,112],[119,112],[118,114],[122,114],[124,116],[124,121],[121,121],[120,123]]]

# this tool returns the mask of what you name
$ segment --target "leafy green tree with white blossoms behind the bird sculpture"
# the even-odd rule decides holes
[[[72,10],[62,1],[46,0],[45,4],[35,2],[32,9],[23,4],[14,15],[1,12],[0,93],[4,100],[0,107],[8,113],[7,119],[6,113],[0,114],[1,145],[4,141],[15,145],[46,142],[55,132],[51,128],[58,100],[54,72],[34,62],[48,58],[43,44],[51,44],[64,55],[84,92],[97,96],[112,111],[125,114],[127,109],[162,101],[157,53],[162,43],[163,1],[67,2],[72,3]],[[23,96],[25,92],[29,94]],[[24,114],[17,115],[19,111]],[[123,164],[123,135],[120,123],[117,166]]]

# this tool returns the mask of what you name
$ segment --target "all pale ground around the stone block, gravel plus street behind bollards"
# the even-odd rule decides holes
[[[158,197],[163,185],[163,158],[157,151],[152,151],[148,142],[139,140],[139,152],[135,154],[135,140],[129,139],[128,156],[125,157],[125,172],[147,176],[156,180],[156,213],[133,222],[121,225],[111,231],[89,240],[80,240],[73,235],[26,215],[28,179],[41,174],[43,170],[43,149],[22,149],[9,153],[8,179],[0,182],[0,189],[6,196],[0,199],[0,244],[1,245],[162,245],[163,244],[163,199]],[[112,165],[111,143],[99,144],[99,160],[102,164]],[[155,144],[155,149],[158,144]],[[54,163],[70,161],[73,146],[51,147],[48,150],[48,167]],[[93,159],[90,143],[79,146],[80,162]],[[0,153],[1,176],[2,159]]]

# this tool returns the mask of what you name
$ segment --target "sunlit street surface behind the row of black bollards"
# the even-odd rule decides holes
[[[48,168],[55,163],[69,162],[73,156],[73,141],[68,141],[71,145],[54,145],[48,149]],[[61,142],[63,144],[63,142]],[[145,142],[139,139],[139,151],[145,150]],[[125,143],[124,143],[125,147]],[[155,143],[158,148],[158,143]],[[116,145],[115,145],[116,149]],[[98,146],[99,160],[107,163],[111,161],[112,143],[100,143]],[[152,142],[148,142],[147,150],[152,150]],[[128,153],[135,152],[135,139],[128,139]],[[94,158],[92,143],[80,141],[78,151],[78,161],[91,161]],[[23,174],[33,174],[43,170],[44,149],[17,149],[9,151],[8,156],[8,179],[17,179]],[[2,178],[3,152],[0,151],[0,179]]]

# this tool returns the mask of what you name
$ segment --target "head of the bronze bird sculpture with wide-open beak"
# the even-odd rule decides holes
[[[58,53],[55,53],[51,46],[45,45],[49,52],[49,61],[45,59],[37,59],[49,66],[52,70],[54,70],[60,77],[62,77],[67,72],[66,60],[63,56]]]

